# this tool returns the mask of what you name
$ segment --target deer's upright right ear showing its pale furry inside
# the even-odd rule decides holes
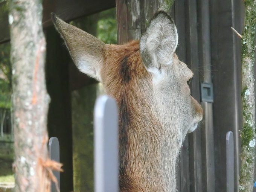
[[[154,73],[161,65],[172,64],[177,44],[174,21],[166,12],[157,12],[140,39],[140,54],[146,69]]]

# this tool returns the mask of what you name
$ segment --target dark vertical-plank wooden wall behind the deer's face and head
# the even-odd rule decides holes
[[[118,41],[139,39],[157,11],[158,0],[116,0]],[[238,190],[241,127],[240,41],[242,2],[177,0],[169,14],[177,25],[177,55],[194,72],[192,96],[200,101],[200,82],[213,83],[214,102],[201,102],[201,127],[186,136],[177,162],[179,192],[226,191],[226,133],[235,135],[235,191]]]

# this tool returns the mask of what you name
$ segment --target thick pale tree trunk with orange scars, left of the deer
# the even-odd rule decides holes
[[[16,192],[49,191],[41,0],[11,0],[12,120]]]

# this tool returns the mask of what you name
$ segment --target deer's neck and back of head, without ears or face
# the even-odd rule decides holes
[[[138,41],[106,47],[102,82],[119,106],[122,191],[175,191],[180,139],[172,133],[175,125],[161,118],[151,78]]]

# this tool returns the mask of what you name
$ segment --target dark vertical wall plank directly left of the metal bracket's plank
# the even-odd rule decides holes
[[[187,65],[191,69],[198,69],[198,34],[197,34],[197,1],[185,1],[185,24],[186,24],[186,55]],[[194,71],[194,78],[191,82],[192,96],[200,101],[199,72]],[[189,155],[190,155],[190,187],[191,192],[203,191],[202,184],[202,155],[201,155],[201,130],[198,128],[189,134]]]

